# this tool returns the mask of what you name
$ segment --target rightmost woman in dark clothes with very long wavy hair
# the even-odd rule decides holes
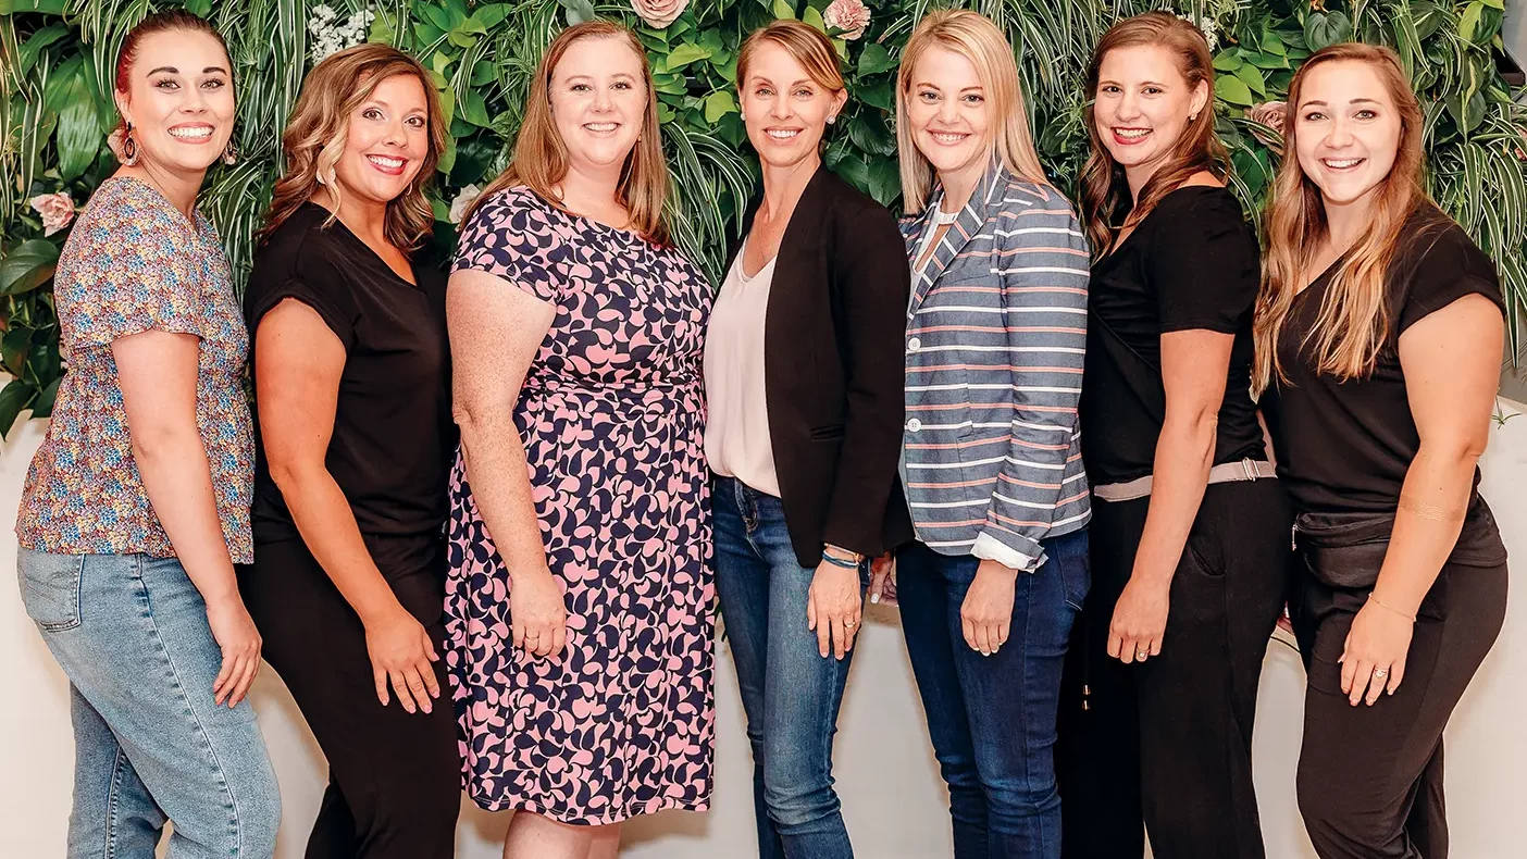
[[[1303,561],[1299,810],[1322,859],[1446,856],[1441,734],[1506,613],[1477,468],[1501,290],[1422,191],[1423,119],[1387,47],[1306,61],[1257,304],[1257,388]]]

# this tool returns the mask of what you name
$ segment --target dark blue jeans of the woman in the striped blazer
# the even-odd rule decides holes
[[[1055,714],[1090,583],[1087,531],[1043,546],[1049,560],[1019,574],[1008,642],[991,656],[965,644],[960,624],[980,560],[922,543],[896,552],[901,627],[950,789],[956,859],[1060,859]]]

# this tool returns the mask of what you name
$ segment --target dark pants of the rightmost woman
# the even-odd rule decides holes
[[[1506,565],[1441,568],[1400,688],[1373,706],[1348,703],[1338,662],[1371,589],[1301,572],[1292,615],[1309,674],[1298,792],[1310,842],[1322,859],[1445,859],[1441,732],[1506,621]]]

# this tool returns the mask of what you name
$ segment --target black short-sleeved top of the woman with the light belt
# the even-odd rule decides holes
[[[1251,398],[1260,264],[1257,235],[1235,195],[1191,185],[1167,194],[1092,267],[1081,456],[1093,485],[1151,473],[1167,420],[1161,336],[1171,331],[1235,336],[1214,464],[1266,458]]]

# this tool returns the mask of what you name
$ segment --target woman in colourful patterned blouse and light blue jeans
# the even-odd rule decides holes
[[[234,578],[252,558],[249,337],[195,206],[231,153],[232,66],[185,11],[127,34],[122,166],[58,259],[69,371],[15,529],[26,612],[69,676],[69,859],[153,859],[166,822],[176,859],[276,847],[281,799],[244,700],[261,639]]]

